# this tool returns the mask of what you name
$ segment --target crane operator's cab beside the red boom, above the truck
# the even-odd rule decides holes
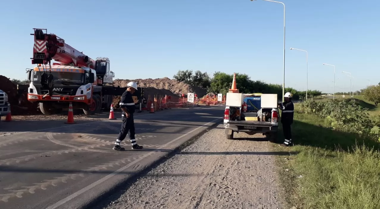
[[[97,57],[95,71],[99,84],[103,85],[103,83],[113,83],[115,73],[109,70],[109,58]]]

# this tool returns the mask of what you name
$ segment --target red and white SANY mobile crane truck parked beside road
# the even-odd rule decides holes
[[[72,103],[73,109],[83,109],[86,115],[109,108],[113,96],[120,96],[126,88],[112,86],[114,72],[109,59],[96,61],[65,43],[46,29],[33,28],[32,64],[28,70],[28,101],[38,102],[44,115],[59,113]],[[51,60],[59,63],[51,64]],[[141,88],[136,91],[141,95]],[[141,101],[141,99],[139,99]]]

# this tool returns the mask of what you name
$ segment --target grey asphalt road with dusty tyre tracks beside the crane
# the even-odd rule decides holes
[[[55,121],[51,128],[46,121],[35,121],[34,131],[12,121],[13,127],[25,130],[0,135],[0,208],[82,208],[222,116],[223,107],[136,113],[136,140],[144,150],[132,150],[127,137],[122,152],[112,150],[120,120],[60,121],[58,127]]]

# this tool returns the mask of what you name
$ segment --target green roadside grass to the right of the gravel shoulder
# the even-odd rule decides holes
[[[332,130],[324,119],[299,113],[294,114],[292,135],[296,146],[275,146],[297,153],[277,159],[289,206],[380,208],[380,143]]]

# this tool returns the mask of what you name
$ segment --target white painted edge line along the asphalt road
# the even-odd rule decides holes
[[[220,119],[222,119],[222,117],[220,117],[220,118],[218,118],[218,119],[215,119],[215,120],[213,120],[213,121],[211,121],[211,122],[209,122],[209,123],[203,124],[202,126],[199,126],[198,128],[193,129],[193,130],[187,132],[186,134],[183,134],[183,135],[181,135],[180,137],[177,137],[177,138],[175,138],[175,139],[169,141],[168,143],[166,143],[165,145],[162,145],[162,146],[158,147],[157,149],[165,148],[166,146],[168,146],[168,145],[170,145],[171,143],[173,143],[173,142],[179,140],[180,138],[185,137],[185,136],[191,134],[192,132],[195,132],[196,130],[198,130],[198,129],[204,127],[204,126],[208,126],[209,124],[212,124],[212,123],[214,123],[215,121],[220,120]],[[139,159],[137,159],[137,160],[135,160],[135,161],[129,163],[128,165],[125,165],[124,167],[122,167],[122,168],[120,168],[120,169],[114,171],[114,172],[111,173],[111,174],[108,174],[107,176],[105,176],[105,177],[99,179],[98,181],[93,182],[92,184],[90,184],[90,185],[88,185],[87,187],[84,187],[83,189],[81,189],[81,190],[79,190],[79,191],[73,193],[72,195],[67,196],[66,198],[63,198],[62,200],[58,201],[57,203],[52,204],[52,205],[49,206],[49,207],[46,207],[46,209],[55,209],[55,208],[57,208],[57,207],[59,207],[59,206],[65,204],[65,203],[67,203],[68,201],[70,201],[70,200],[76,198],[77,196],[81,195],[81,194],[84,193],[84,192],[87,192],[88,190],[92,189],[93,187],[95,187],[95,186],[97,186],[97,185],[99,185],[99,184],[101,184],[101,183],[107,181],[108,179],[112,178],[112,177],[115,176],[116,174],[122,172],[123,170],[127,169],[127,168],[130,167],[131,165],[133,165],[133,164],[139,162],[140,160],[142,160],[142,159],[144,159],[144,158],[150,156],[150,155],[153,154],[153,153],[155,153],[155,152],[154,152],[154,151],[152,151],[152,152],[148,152],[147,154],[145,154],[145,155],[142,156],[141,158],[139,158]]]

